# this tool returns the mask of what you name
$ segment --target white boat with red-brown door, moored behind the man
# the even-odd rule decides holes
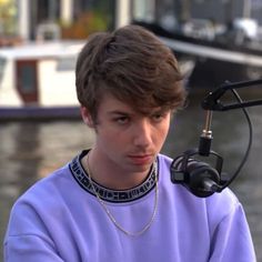
[[[0,120],[79,115],[74,67],[83,41],[0,49]]]

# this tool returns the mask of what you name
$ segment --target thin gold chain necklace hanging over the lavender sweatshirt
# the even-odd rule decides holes
[[[101,204],[101,206],[103,208],[103,210],[105,211],[107,215],[109,216],[109,219],[112,221],[112,223],[120,230],[122,231],[124,234],[129,235],[129,236],[139,236],[141,234],[143,234],[153,223],[155,214],[157,214],[157,210],[158,210],[158,201],[159,201],[159,184],[158,184],[158,175],[157,175],[157,170],[155,170],[155,163],[153,163],[153,171],[154,172],[154,178],[155,178],[155,195],[154,195],[154,206],[153,206],[153,212],[152,215],[149,220],[149,222],[139,231],[137,232],[130,232],[128,230],[125,230],[121,224],[119,224],[119,222],[114,219],[114,216],[112,215],[112,213],[110,212],[110,210],[108,209],[105,202],[101,199],[101,196],[99,195],[98,191],[94,188],[93,181],[92,181],[92,174],[90,171],[90,164],[89,164],[89,154],[87,157],[87,171],[88,171],[88,178],[90,181],[90,184],[92,187],[92,190],[99,201],[99,203]]]

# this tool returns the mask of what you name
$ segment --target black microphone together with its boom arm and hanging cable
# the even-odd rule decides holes
[[[262,100],[242,101],[235,89],[244,88],[250,85],[261,84],[262,79],[251,80],[244,82],[225,82],[202,101],[202,108],[206,110],[205,125],[200,137],[199,148],[185,151],[173,160],[170,167],[171,181],[175,184],[182,184],[191,193],[200,198],[206,198],[215,192],[222,192],[229,187],[233,180],[239,175],[239,172],[243,168],[252,144],[252,123],[245,108],[262,104]],[[228,91],[231,90],[236,99],[236,103],[223,104],[220,98]],[[216,152],[210,150],[212,141],[211,119],[212,111],[228,111],[232,109],[242,109],[246,118],[250,134],[249,144],[244,157],[238,167],[236,171],[229,178],[228,174],[222,174],[223,158]],[[212,111],[211,111],[212,110]],[[215,168],[210,164],[202,162],[194,155],[210,157],[213,155],[216,160]],[[223,178],[222,178],[223,177]]]

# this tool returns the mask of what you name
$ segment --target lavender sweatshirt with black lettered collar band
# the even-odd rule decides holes
[[[170,181],[171,159],[159,154],[157,172],[139,187],[112,191],[94,183],[119,230],[93,194],[79,154],[16,202],[4,239],[6,262],[254,262],[243,209],[225,189],[196,198]]]

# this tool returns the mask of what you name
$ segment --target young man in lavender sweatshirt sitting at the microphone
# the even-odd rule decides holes
[[[202,199],[170,181],[160,150],[185,99],[172,52],[127,26],[90,37],[75,72],[94,144],[17,201],[4,261],[255,261],[229,189]]]

